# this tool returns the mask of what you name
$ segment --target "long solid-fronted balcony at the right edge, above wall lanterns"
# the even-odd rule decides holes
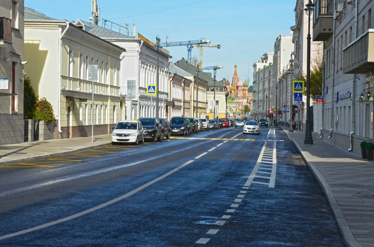
[[[343,49],[343,73],[364,74],[374,67],[374,29],[368,29]]]

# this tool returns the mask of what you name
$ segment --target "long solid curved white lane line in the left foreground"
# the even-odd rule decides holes
[[[67,216],[67,217],[62,218],[62,219],[58,219],[56,221],[51,221],[51,222],[48,222],[48,223],[45,223],[45,224],[42,224],[42,225],[39,225],[39,226],[34,226],[32,228],[28,228],[28,229],[22,230],[22,231],[18,231],[18,232],[13,232],[13,233],[10,233],[10,234],[2,235],[2,236],[0,236],[0,240],[6,239],[6,238],[15,237],[15,236],[18,236],[18,235],[21,235],[21,234],[25,234],[27,232],[36,231],[36,230],[39,230],[39,229],[42,229],[42,228],[46,228],[48,226],[56,225],[58,223],[69,221],[71,219],[78,218],[79,216],[86,215],[86,214],[91,213],[93,211],[102,209],[103,207],[109,206],[109,205],[111,205],[113,203],[116,203],[117,201],[123,200],[126,197],[132,196],[133,194],[141,191],[144,188],[147,188],[148,186],[154,184],[155,182],[160,181],[163,178],[166,178],[167,176],[171,175],[172,173],[178,171],[179,169],[184,168],[185,166],[187,166],[188,164],[190,164],[192,162],[193,162],[193,160],[190,160],[190,161],[184,163],[183,165],[178,166],[177,168],[174,168],[170,172],[167,172],[164,175],[159,176],[158,178],[155,178],[152,181],[147,182],[146,184],[143,184],[140,187],[138,187],[138,188],[136,188],[136,189],[134,189],[134,190],[132,190],[132,191],[130,191],[130,192],[128,192],[128,193],[120,196],[120,197],[114,198],[113,200],[110,200],[110,201],[107,201],[105,203],[102,203],[102,204],[100,204],[100,205],[98,205],[96,207],[92,207],[91,209],[84,210],[82,212],[76,213],[74,215]]]

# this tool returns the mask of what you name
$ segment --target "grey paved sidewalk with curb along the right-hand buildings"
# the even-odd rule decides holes
[[[320,139],[304,145],[305,132],[283,131],[315,175],[347,246],[374,246],[374,162]]]

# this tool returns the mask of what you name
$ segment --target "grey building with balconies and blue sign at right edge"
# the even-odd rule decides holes
[[[324,128],[324,140],[359,153],[361,141],[374,139],[374,1],[314,3],[312,37],[325,47],[325,103],[314,109],[323,116],[315,118],[314,131]]]

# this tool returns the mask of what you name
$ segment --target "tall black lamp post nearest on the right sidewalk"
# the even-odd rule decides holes
[[[312,138],[312,126],[310,121],[310,15],[313,12],[315,4],[311,0],[305,5],[304,9],[308,15],[308,36],[307,36],[307,62],[306,62],[306,128],[305,128],[305,138],[304,144],[313,144]]]

